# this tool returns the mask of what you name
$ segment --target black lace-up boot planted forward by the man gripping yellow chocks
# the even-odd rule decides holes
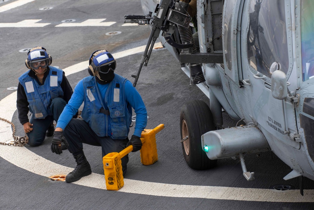
[[[84,156],[84,152],[77,156],[73,155],[73,157],[75,158],[77,166],[72,172],[70,172],[65,177],[66,182],[75,182],[81,179],[82,177],[88,176],[89,174],[92,173],[92,170],[90,169],[90,165],[87,162],[86,157]]]

